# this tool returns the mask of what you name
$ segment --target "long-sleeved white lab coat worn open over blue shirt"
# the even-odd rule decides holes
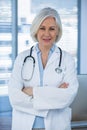
[[[45,130],[71,130],[71,108],[78,81],[74,59],[62,51],[62,73],[55,72],[59,64],[60,53],[56,47],[44,69],[43,87],[40,86],[40,75],[36,48],[32,55],[35,58],[35,69],[30,81],[21,78],[23,60],[29,55],[29,50],[17,57],[11,79],[9,81],[9,97],[13,107],[12,130],[31,130],[35,116],[44,117]],[[30,68],[29,68],[30,69]],[[28,73],[28,71],[26,71]],[[68,88],[58,88],[63,83],[69,83]],[[25,87],[33,87],[33,98],[21,91]]]

